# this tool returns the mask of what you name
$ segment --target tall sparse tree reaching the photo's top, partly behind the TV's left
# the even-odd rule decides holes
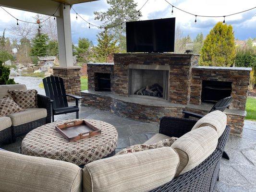
[[[118,41],[121,52],[126,52],[125,24],[129,21],[137,21],[142,15],[136,10],[137,3],[134,0],[107,0],[110,8],[107,12],[94,12],[95,19],[104,21],[101,27],[117,25],[109,29],[114,39]],[[133,16],[131,18],[131,16]]]

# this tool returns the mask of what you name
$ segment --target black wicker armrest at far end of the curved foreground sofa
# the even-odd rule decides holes
[[[163,117],[160,119],[159,133],[169,137],[181,137],[190,132],[197,120],[175,117]]]

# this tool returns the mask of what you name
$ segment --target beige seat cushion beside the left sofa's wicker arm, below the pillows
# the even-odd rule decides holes
[[[12,120],[12,126],[22,125],[47,116],[45,108],[27,108],[26,111],[8,115]]]

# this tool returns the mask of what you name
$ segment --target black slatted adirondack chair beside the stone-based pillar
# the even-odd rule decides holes
[[[76,112],[76,119],[79,118],[78,100],[81,96],[66,94],[63,79],[61,77],[49,76],[43,79],[45,94],[51,99],[51,120],[54,122],[54,115]],[[67,96],[75,99],[75,106],[68,106]]]

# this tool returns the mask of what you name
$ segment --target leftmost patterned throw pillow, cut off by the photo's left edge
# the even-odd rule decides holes
[[[12,99],[0,99],[0,117],[10,115],[12,113],[22,112],[26,109],[20,108]]]

